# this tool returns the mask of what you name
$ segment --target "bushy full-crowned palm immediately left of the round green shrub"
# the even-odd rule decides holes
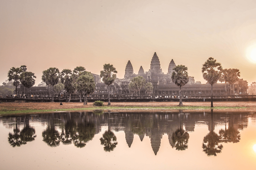
[[[84,105],[87,105],[87,95],[95,90],[94,77],[90,72],[86,72],[77,79],[76,89],[79,93],[84,94]]]

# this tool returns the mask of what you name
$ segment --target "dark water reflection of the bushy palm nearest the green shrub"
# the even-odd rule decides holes
[[[78,130],[73,137],[74,145],[76,147],[84,147],[89,140],[92,140],[95,134],[95,127],[92,123],[80,123]]]

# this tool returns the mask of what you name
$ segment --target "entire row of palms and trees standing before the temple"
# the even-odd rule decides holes
[[[179,106],[182,106],[181,88],[189,81],[188,68],[185,65],[177,65],[173,70],[174,72],[172,72],[171,79],[172,82],[180,88]],[[108,105],[110,105],[109,86],[115,81],[116,73],[117,70],[112,64],[104,64],[103,70],[100,71],[102,81],[108,86]],[[237,82],[239,80],[238,77],[240,77],[239,69],[223,69],[221,63],[217,62],[216,59],[212,57],[208,58],[203,64],[202,74],[207,83],[211,85],[211,107],[213,107],[213,84],[217,83],[217,81],[224,82],[227,95],[226,83],[229,83],[230,94],[234,94],[234,83]],[[17,68],[12,67],[8,72],[8,80],[13,81],[16,94],[19,83],[22,83],[24,88],[28,89],[35,84],[35,78],[34,73],[28,72],[25,65]],[[61,82],[63,85],[59,84],[59,87],[56,88],[64,88],[66,90],[69,94],[68,102],[70,102],[71,94],[78,92],[80,94],[80,102],[82,102],[81,95],[83,94],[85,96],[84,105],[87,104],[87,95],[93,93],[96,86],[93,75],[82,66],[76,67],[73,71],[63,69],[61,72],[56,67],[50,67],[43,71],[42,81],[50,87],[52,91],[52,101],[54,100],[54,86]],[[239,81],[239,86],[248,88],[248,83],[245,80]],[[153,92],[152,83],[145,83],[145,79],[142,76],[132,78],[128,88],[132,93],[139,93],[139,95],[142,88],[144,88],[149,95]]]

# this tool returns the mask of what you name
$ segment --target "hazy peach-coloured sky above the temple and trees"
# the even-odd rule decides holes
[[[100,74],[110,63],[124,78],[128,60],[134,73],[148,71],[154,52],[165,74],[173,59],[206,83],[202,64],[213,57],[250,85],[254,48],[255,0],[0,0],[1,85],[21,65],[36,85],[49,67]]]

